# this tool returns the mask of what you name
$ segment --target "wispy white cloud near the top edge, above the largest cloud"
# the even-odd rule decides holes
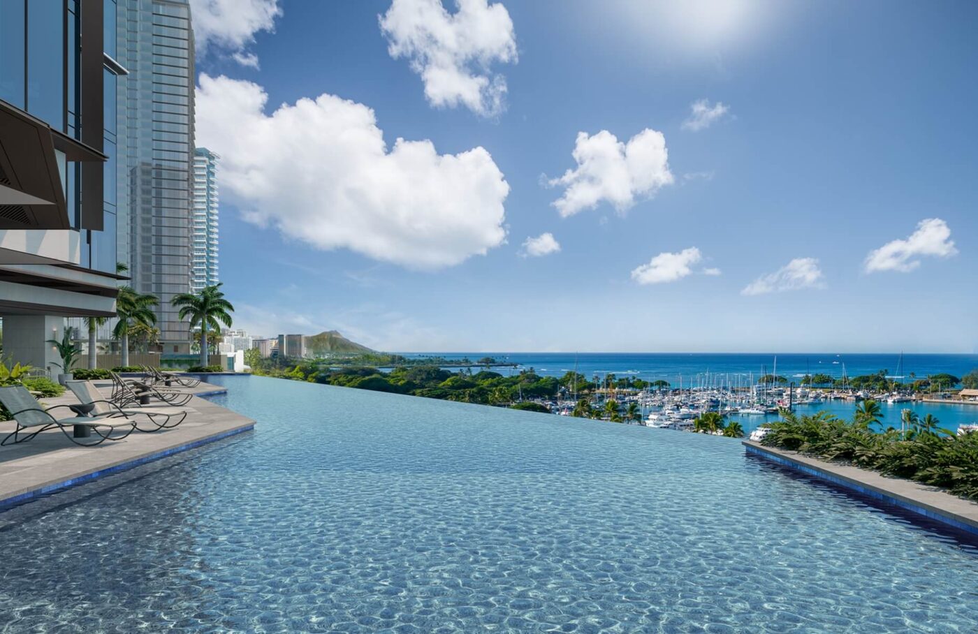
[[[502,3],[458,0],[450,14],[441,0],[394,0],[379,20],[390,57],[411,62],[432,106],[505,109],[506,78],[492,64],[516,62],[516,36]]]

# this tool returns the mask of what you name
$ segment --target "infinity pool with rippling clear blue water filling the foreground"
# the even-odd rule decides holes
[[[213,382],[254,433],[0,514],[0,631],[978,631],[978,550],[730,439]]]

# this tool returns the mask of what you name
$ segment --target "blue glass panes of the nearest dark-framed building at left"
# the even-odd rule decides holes
[[[115,1],[102,0],[105,40],[103,50],[115,50]],[[81,11],[91,6],[80,0],[0,0],[0,99],[44,121],[51,128],[81,141]],[[56,153],[67,200],[70,226],[82,232],[79,264],[113,272],[116,232],[116,134],[119,78],[104,69],[105,164],[67,161]],[[94,144],[93,144],[94,145]],[[99,148],[97,148],[99,149]],[[101,172],[105,183],[105,224],[102,231],[81,225],[82,170]]]

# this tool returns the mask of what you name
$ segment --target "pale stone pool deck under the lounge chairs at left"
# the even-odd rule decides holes
[[[111,383],[96,381],[96,385],[107,397],[111,394]],[[53,429],[22,444],[0,446],[0,510],[254,428],[253,420],[199,398],[223,394],[227,391],[225,388],[200,383],[185,391],[195,397],[183,407],[173,408],[189,412],[187,418],[173,429],[152,434],[135,431],[124,440],[106,441],[98,446],[78,446],[63,432]],[[66,392],[61,397],[41,399],[41,402],[51,406],[78,401]],[[154,407],[158,406],[154,402]],[[59,411],[63,417],[72,415],[67,409]],[[0,438],[14,431],[14,427],[10,421],[0,422]]]

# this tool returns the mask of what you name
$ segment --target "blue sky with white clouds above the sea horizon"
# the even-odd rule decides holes
[[[978,352],[978,5],[192,0],[252,334]]]

